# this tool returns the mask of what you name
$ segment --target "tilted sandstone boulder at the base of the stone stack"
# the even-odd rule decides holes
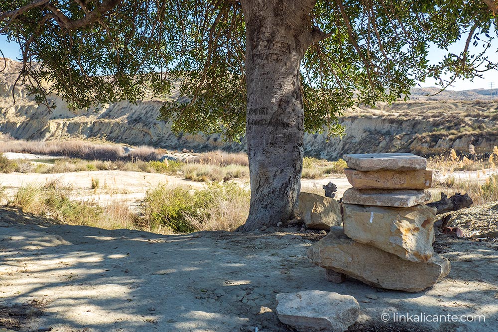
[[[433,286],[450,272],[450,262],[434,254],[426,263],[415,263],[376,247],[355,242],[342,227],[332,227],[329,235],[308,250],[312,263],[344,273],[374,287],[419,292]]]

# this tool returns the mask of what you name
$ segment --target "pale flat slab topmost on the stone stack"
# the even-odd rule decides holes
[[[357,171],[415,171],[427,167],[427,159],[411,153],[346,154],[343,159]]]

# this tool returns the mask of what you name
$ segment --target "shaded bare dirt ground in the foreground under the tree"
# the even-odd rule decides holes
[[[425,292],[403,293],[325,281],[306,258],[311,242],[302,236],[310,233],[294,230],[164,236],[0,210],[0,307],[36,305],[10,326],[21,332],[288,332],[274,313],[276,294],[324,290],[358,299],[356,331],[498,330],[497,243],[440,239],[449,276]],[[394,312],[485,315],[486,322],[382,328],[380,315]]]

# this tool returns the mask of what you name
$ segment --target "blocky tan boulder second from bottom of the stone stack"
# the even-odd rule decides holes
[[[373,245],[403,259],[427,262],[434,254],[436,209],[423,205],[383,208],[343,205],[344,232],[357,242]]]

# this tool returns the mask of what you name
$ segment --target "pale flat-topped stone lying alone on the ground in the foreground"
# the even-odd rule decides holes
[[[324,291],[277,294],[280,322],[302,332],[344,332],[360,314],[351,295]]]

